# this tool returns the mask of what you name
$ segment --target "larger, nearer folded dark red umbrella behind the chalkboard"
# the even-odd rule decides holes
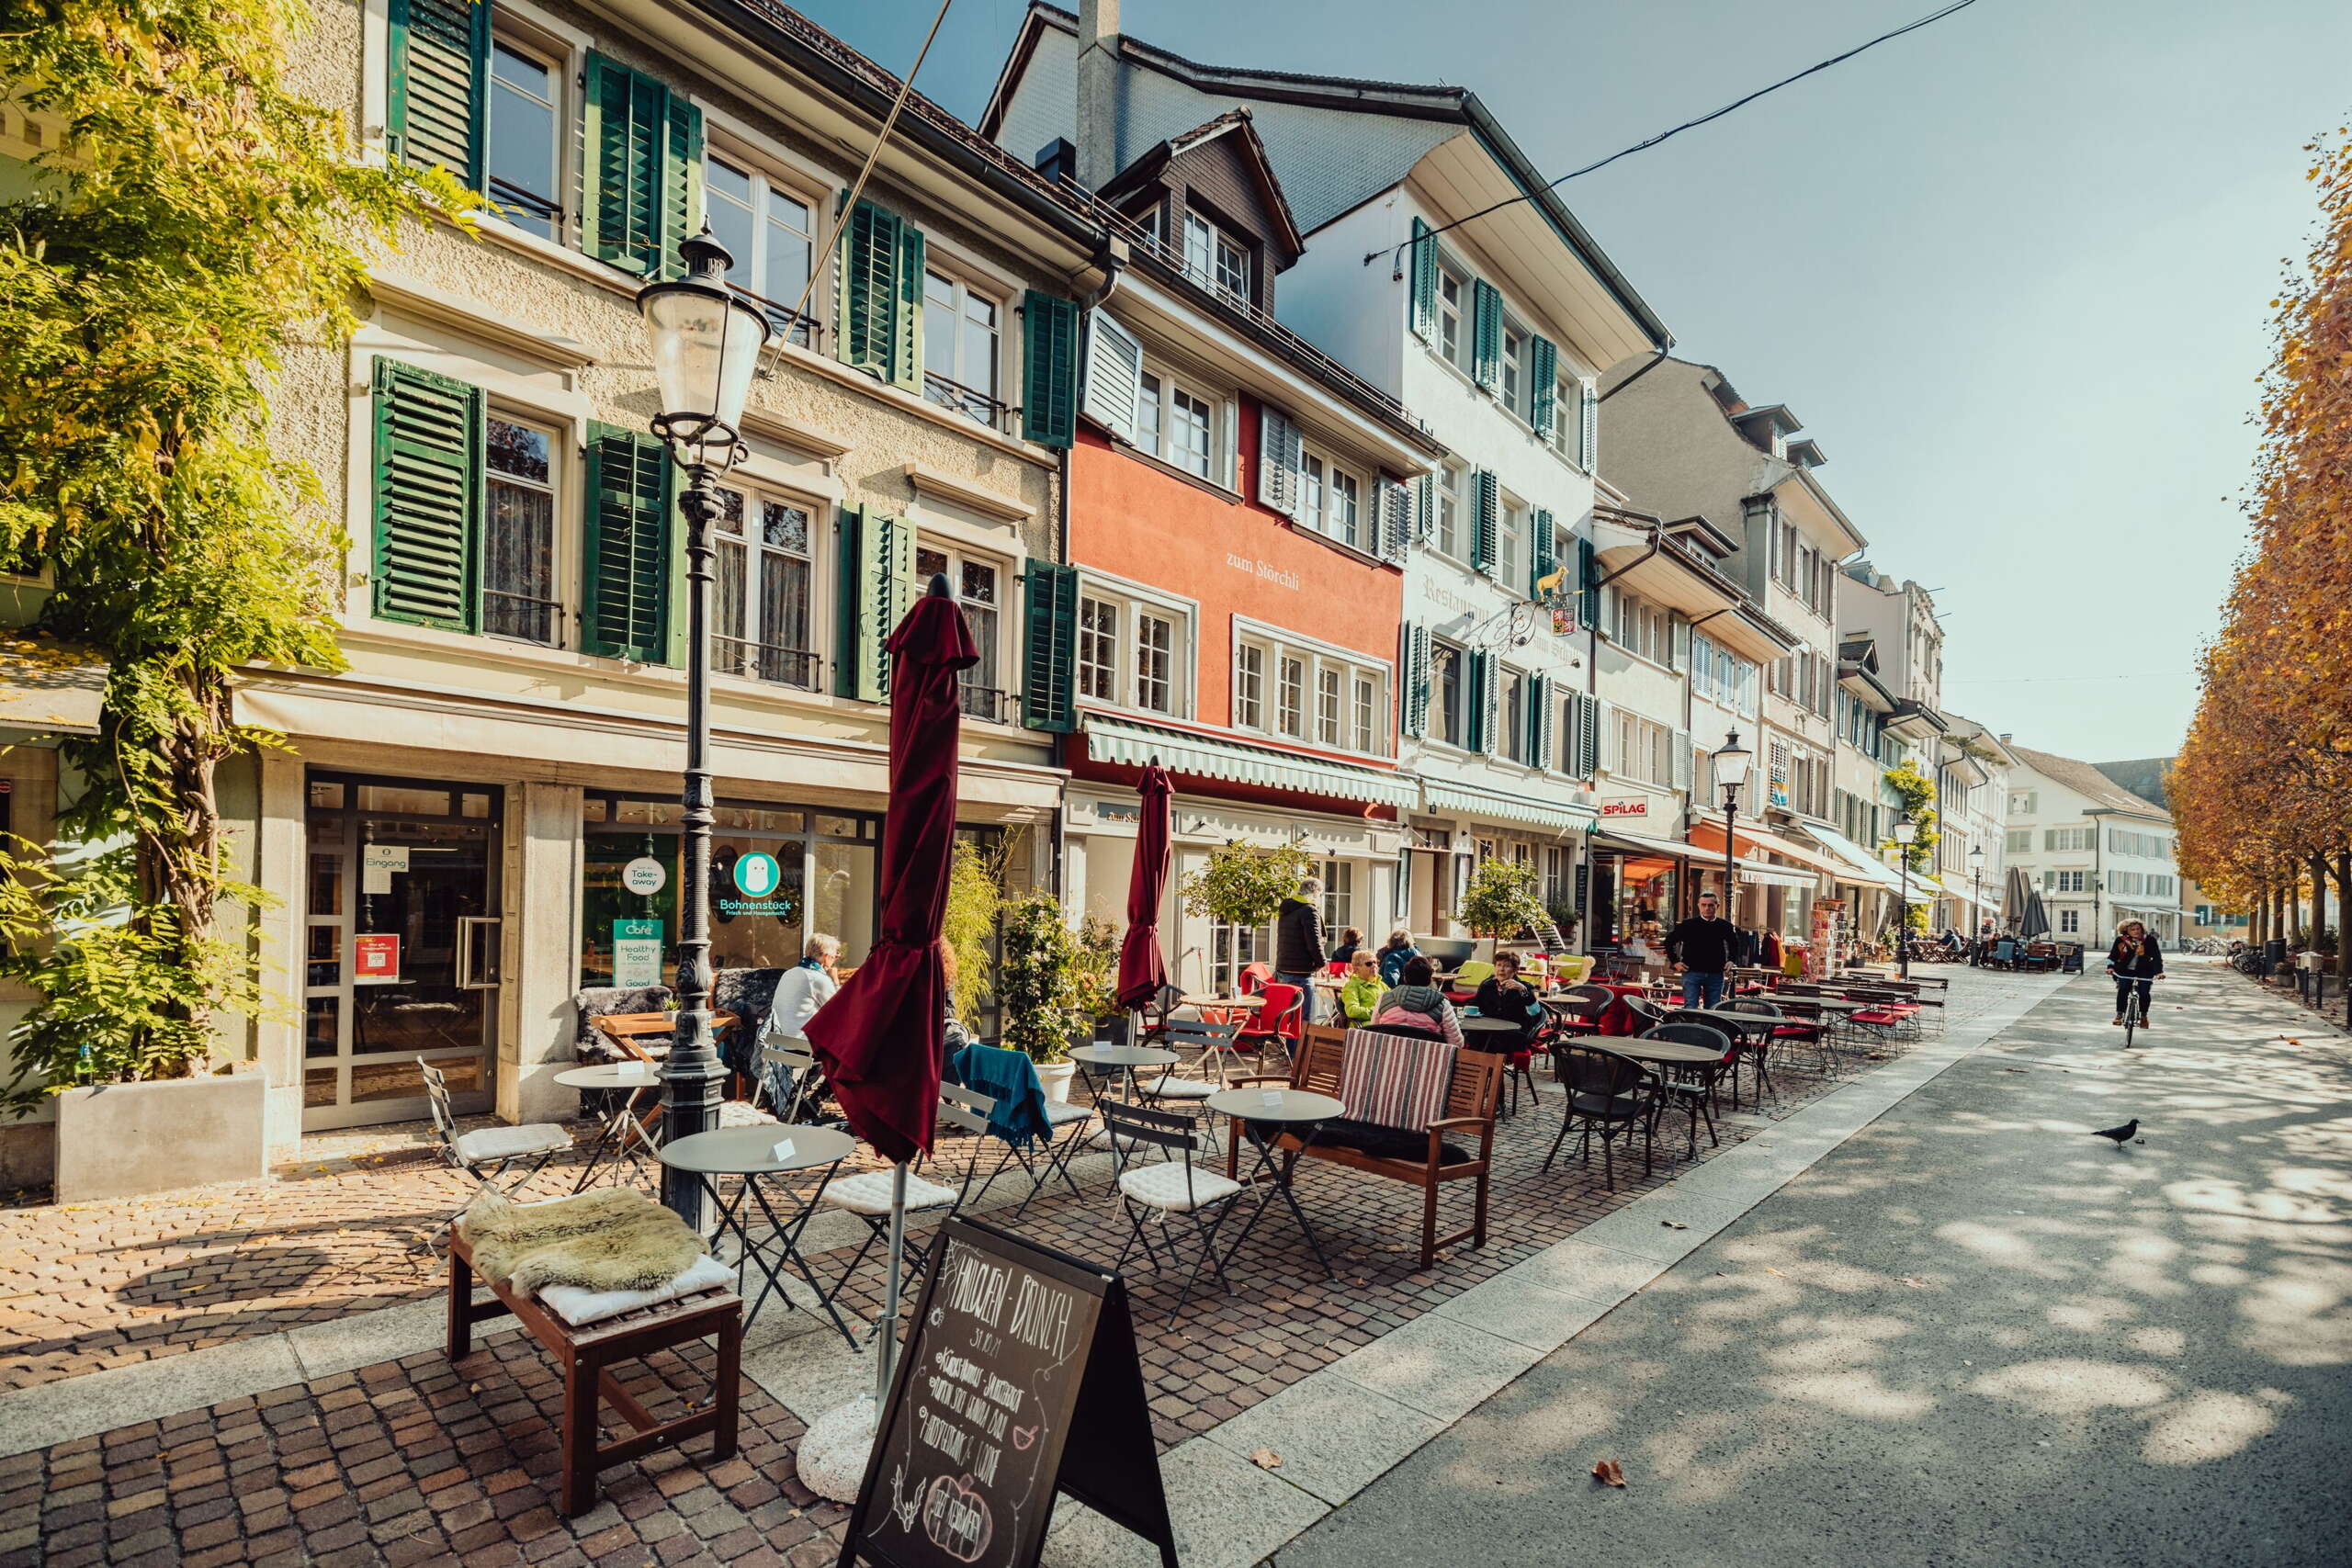
[[[962,708],[955,675],[981,661],[948,578],[884,644],[889,677],[889,813],[882,818],[882,936],[807,1037],[851,1131],[898,1164],[931,1147],[946,1039],[948,976],[938,933],[955,856]]]

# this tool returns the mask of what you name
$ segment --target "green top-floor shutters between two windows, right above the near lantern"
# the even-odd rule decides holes
[[[654,78],[588,56],[581,247],[626,273],[677,275],[703,221],[703,110]]]

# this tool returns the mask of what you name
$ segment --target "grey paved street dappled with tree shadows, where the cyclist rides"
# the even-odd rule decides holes
[[[1279,1568],[2352,1561],[2352,1051],[2218,966],[2129,1058],[2110,1001],[2044,1001]]]

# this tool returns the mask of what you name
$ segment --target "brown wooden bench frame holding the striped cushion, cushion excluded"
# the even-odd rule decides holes
[[[1301,1039],[1298,1056],[1287,1079],[1235,1079],[1237,1084],[1289,1084],[1331,1098],[1341,1098],[1338,1079],[1345,1060],[1348,1034],[1329,1025],[1310,1025]],[[1446,1114],[1423,1131],[1399,1131],[1371,1121],[1324,1121],[1315,1143],[1305,1145],[1308,1159],[1324,1159],[1350,1171],[1383,1175],[1395,1182],[1421,1187],[1421,1267],[1437,1262],[1437,1248],[1468,1239],[1470,1246],[1486,1246],[1486,1182],[1494,1171],[1494,1117],[1503,1088],[1503,1058],[1486,1051],[1458,1051],[1454,1081],[1446,1086]],[[1477,1147],[1454,1143],[1446,1133],[1477,1135]],[[1277,1145],[1296,1157],[1301,1140],[1284,1133]],[[1225,1128],[1225,1175],[1240,1173],[1242,1128]],[[1468,1229],[1451,1237],[1437,1234],[1437,1190],[1444,1182],[1477,1182],[1477,1215]]]

